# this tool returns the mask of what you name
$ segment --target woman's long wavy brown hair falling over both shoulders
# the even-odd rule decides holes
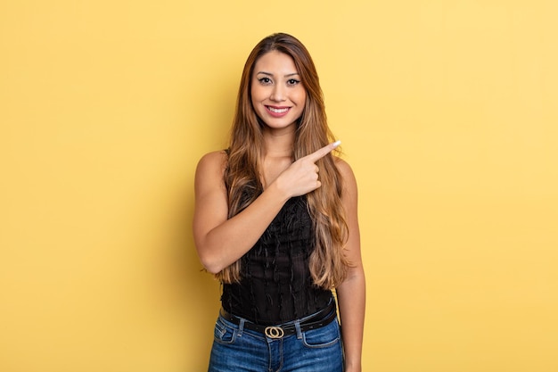
[[[264,124],[252,107],[250,84],[254,65],[262,55],[271,51],[291,56],[307,91],[306,104],[295,133],[293,159],[296,161],[314,153],[335,140],[327,126],[324,95],[316,67],[306,47],[297,38],[283,33],[261,40],[244,64],[227,150],[224,178],[229,219],[250,205],[263,191],[259,167],[264,153]],[[324,156],[316,165],[320,169],[322,186],[307,194],[308,211],[316,234],[316,247],[310,255],[309,269],[316,285],[330,289],[340,285],[347,275],[349,262],[343,246],[348,231],[341,203],[341,174],[332,154]],[[217,273],[217,278],[224,283],[237,282],[241,277],[241,260]]]

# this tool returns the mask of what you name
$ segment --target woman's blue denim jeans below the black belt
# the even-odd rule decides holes
[[[247,320],[246,320],[247,322]],[[209,372],[341,372],[343,356],[337,319],[327,326],[283,338],[217,318]]]

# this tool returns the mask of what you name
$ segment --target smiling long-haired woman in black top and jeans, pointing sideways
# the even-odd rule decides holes
[[[209,371],[361,370],[357,183],[339,144],[305,46],[264,38],[242,72],[230,145],[195,176],[196,248],[223,283]]]

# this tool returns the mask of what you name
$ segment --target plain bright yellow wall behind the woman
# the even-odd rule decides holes
[[[1,0],[0,370],[205,370],[193,171],[285,31],[357,174],[365,371],[555,372],[555,4]]]

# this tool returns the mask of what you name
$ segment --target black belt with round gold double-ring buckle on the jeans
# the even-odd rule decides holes
[[[337,318],[337,312],[335,311],[334,303],[335,302],[332,302],[332,304],[330,304],[327,308],[325,308],[324,310],[320,310],[312,318],[308,318],[300,322],[300,332],[306,332],[311,329],[321,328],[330,324],[334,318]],[[221,317],[237,326],[241,323],[242,318],[236,317],[223,308],[221,308],[220,314]],[[320,316],[322,316],[323,314],[325,314],[324,317],[320,318]],[[285,335],[296,335],[297,333],[297,328],[295,327],[294,321],[278,326],[265,326],[245,320],[244,329],[250,329],[251,331],[259,332],[260,334],[267,335],[267,337],[269,338],[283,338],[283,336]]]

